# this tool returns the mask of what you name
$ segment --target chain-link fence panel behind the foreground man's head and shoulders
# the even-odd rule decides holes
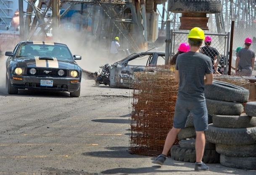
[[[187,35],[188,32],[171,30],[170,59],[172,59],[172,56],[177,53],[179,44],[183,42],[187,43]],[[228,58],[230,33],[205,33],[205,36],[211,37],[212,41],[210,46],[215,49],[204,47],[205,44],[203,44],[202,50],[204,54],[211,57],[213,69],[214,71],[216,70],[216,74],[227,75],[228,59],[226,58]]]

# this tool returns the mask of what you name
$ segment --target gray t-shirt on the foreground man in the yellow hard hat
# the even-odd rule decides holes
[[[205,100],[203,79],[206,74],[212,73],[211,58],[193,51],[179,54],[176,70],[179,70],[178,98]]]

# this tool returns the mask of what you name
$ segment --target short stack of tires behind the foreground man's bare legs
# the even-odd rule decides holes
[[[211,115],[208,115],[208,123],[212,123],[211,118]],[[181,129],[178,134],[179,144],[173,145],[171,148],[171,156],[173,160],[181,162],[196,161],[195,136],[193,116],[189,114],[185,128]],[[219,163],[219,154],[215,151],[215,144],[206,142],[203,162]]]

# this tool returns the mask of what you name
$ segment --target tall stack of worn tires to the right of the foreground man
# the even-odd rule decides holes
[[[213,121],[206,131],[206,140],[216,144],[221,165],[256,170],[256,102],[246,103],[249,91],[215,81],[206,87],[205,95]],[[246,114],[241,114],[243,103]]]

